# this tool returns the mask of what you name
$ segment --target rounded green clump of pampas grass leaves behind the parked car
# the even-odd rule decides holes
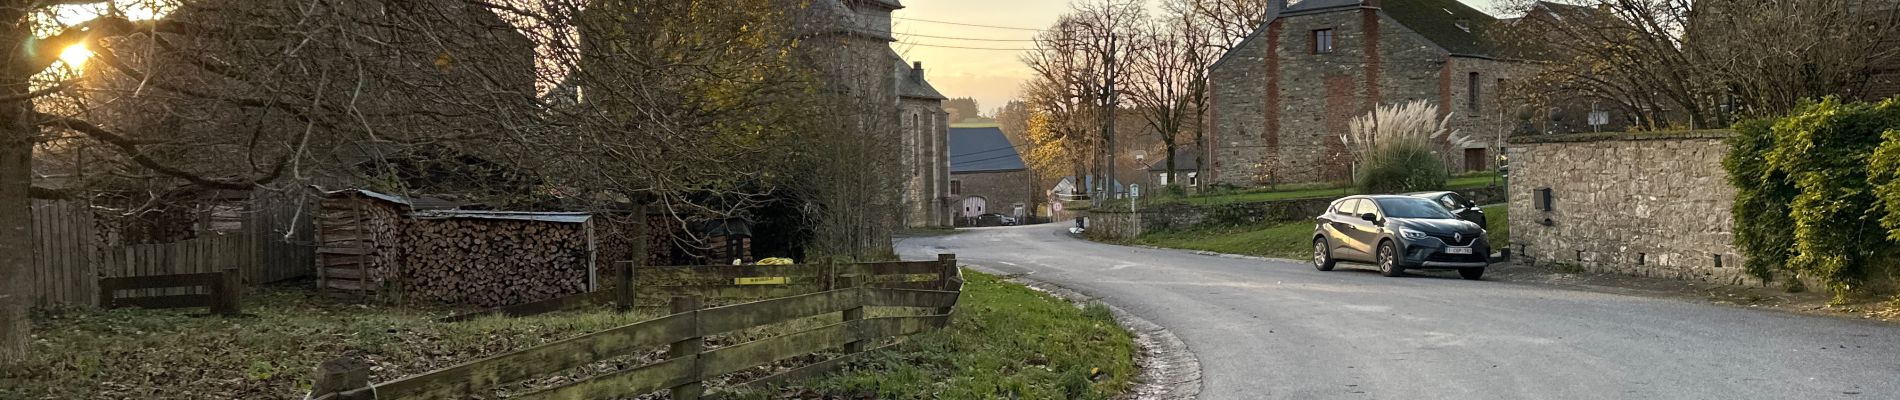
[[[1444,159],[1429,146],[1385,142],[1360,159],[1353,184],[1360,193],[1404,193],[1438,190],[1450,180]]]

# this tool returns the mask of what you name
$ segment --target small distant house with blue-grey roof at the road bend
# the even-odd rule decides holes
[[[996,212],[1022,220],[1036,207],[1036,173],[998,127],[950,129],[950,197],[958,226]]]

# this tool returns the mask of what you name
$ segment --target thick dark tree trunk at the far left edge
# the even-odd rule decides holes
[[[32,136],[34,127],[27,121],[32,100],[25,70],[21,44],[30,44],[28,28],[23,23],[27,4],[0,4],[0,44],[8,51],[10,63],[0,70],[0,364],[27,356],[27,336],[32,324],[27,318],[27,275],[32,271],[32,205],[27,193],[32,190]]]

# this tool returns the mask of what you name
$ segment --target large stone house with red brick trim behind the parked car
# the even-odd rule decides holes
[[[1340,135],[1378,104],[1429,100],[1476,138],[1509,129],[1499,87],[1518,64],[1484,40],[1495,17],[1457,0],[1271,2],[1267,21],[1210,66],[1201,178],[1347,180]],[[1493,157],[1484,146],[1446,155],[1452,171],[1490,169]]]

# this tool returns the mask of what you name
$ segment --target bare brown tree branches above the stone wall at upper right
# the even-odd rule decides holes
[[[1870,0],[1520,2],[1499,34],[1543,68],[1533,104],[1600,100],[1645,129],[1723,127],[1801,99],[1858,97],[1900,27]]]

